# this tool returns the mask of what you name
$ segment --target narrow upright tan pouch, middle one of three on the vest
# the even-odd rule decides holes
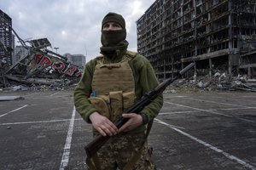
[[[112,111],[111,120],[115,122],[123,113],[123,92],[115,91],[109,92],[110,108]]]

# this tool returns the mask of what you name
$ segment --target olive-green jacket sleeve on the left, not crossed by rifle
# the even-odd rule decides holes
[[[91,81],[95,63],[95,60],[91,60],[85,65],[83,75],[74,89],[74,105],[76,111],[79,112],[86,122],[90,122],[90,114],[96,111],[96,108],[88,100],[91,94]]]

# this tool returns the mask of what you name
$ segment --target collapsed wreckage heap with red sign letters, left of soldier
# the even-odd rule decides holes
[[[27,53],[13,65],[0,61],[0,89],[26,90],[35,86],[62,88],[79,82],[82,69],[69,63],[66,57],[47,49],[51,47],[47,38],[23,41],[18,37]],[[21,85],[26,84],[24,88]]]

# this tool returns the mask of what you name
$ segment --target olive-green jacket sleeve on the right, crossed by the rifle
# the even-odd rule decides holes
[[[154,69],[148,59],[144,58],[142,55],[138,56],[138,59],[135,59],[137,67],[137,89],[141,89],[138,94],[139,98],[146,94],[148,91],[157,87],[159,82],[155,77]],[[144,106],[143,110],[140,111],[148,116],[148,121],[152,121],[155,116],[160,112],[160,109],[163,105],[163,95],[160,94],[156,99],[154,99],[150,104]]]

